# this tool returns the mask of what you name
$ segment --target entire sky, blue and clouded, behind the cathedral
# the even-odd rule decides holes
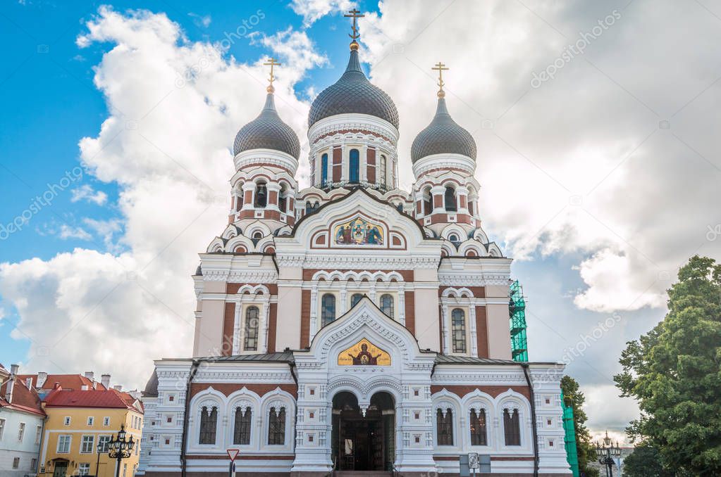
[[[304,76],[285,98],[276,91],[281,116],[303,142],[304,118],[293,114],[305,111],[309,90],[334,82],[348,59],[349,22],[337,11],[342,1],[312,24],[288,1],[118,1],[112,2],[120,13],[114,19],[102,18],[102,4],[89,2],[2,4],[0,363],[81,372],[89,370],[75,368],[92,362],[94,371],[112,371],[136,386],[159,353],[187,355],[195,254],[221,232],[225,211],[213,209],[197,181],[169,170],[174,165],[167,157],[131,132],[113,142],[110,123],[125,124],[116,109],[128,106],[141,115],[151,109],[143,132],[167,141],[165,150],[174,135],[192,137],[184,144],[189,150],[172,150],[172,158],[226,194],[227,148],[264,96],[265,85],[244,67],[288,47],[291,38],[278,32],[310,40],[307,51],[296,52],[309,56],[294,65],[287,50],[280,53],[283,68]],[[398,106],[406,189],[410,142],[435,109],[430,65],[443,60],[451,67],[444,74],[448,107],[478,145],[483,227],[516,259],[513,276],[528,296],[529,355],[559,360],[604,320],[618,317],[567,372],[587,394],[592,427],[619,431],[634,414],[632,403],[616,399],[611,382],[624,342],[663,317],[664,291],[691,255],[721,254],[721,137],[715,134],[721,128],[721,12],[671,0],[526,3],[356,2],[368,14],[361,22],[361,60]],[[138,9],[152,14],[138,20],[139,39],[128,41],[115,29],[126,27]],[[249,24],[261,17],[259,9],[262,19]],[[154,25],[167,27],[154,14],[167,14],[186,40],[168,45],[154,36]],[[201,71],[203,81],[181,91],[150,76],[173,78],[178,64],[197,60],[180,51],[182,45],[202,50],[244,21],[251,35],[232,42],[221,65]],[[79,47],[88,22],[99,33]],[[599,22],[605,28],[594,34]],[[567,45],[589,35],[583,53],[564,60]],[[139,45],[137,51],[123,50],[128,44]],[[115,49],[121,51],[111,55]],[[136,54],[159,67],[138,69]],[[554,78],[534,86],[534,75],[551,69]],[[112,75],[107,89],[94,84],[97,73]],[[172,95],[153,109],[152,95],[164,97],[168,89]],[[208,96],[235,109],[218,114],[216,104],[203,103]],[[102,124],[110,125],[101,130]],[[166,124],[177,130],[164,130]],[[95,143],[102,147],[97,158],[88,155]],[[81,153],[105,181],[95,169],[79,180],[63,179],[79,166]],[[301,178],[304,160],[301,155]],[[58,191],[61,181],[67,183]],[[48,189],[58,191],[52,206],[38,207],[36,196]],[[176,189],[185,195],[177,197]],[[205,210],[197,222],[184,222],[182,216]],[[24,213],[30,218],[22,230],[6,234]],[[141,270],[146,276],[113,293],[118,277],[149,256],[152,265]],[[162,331],[173,339],[157,339]],[[51,340],[49,358],[40,353],[48,349],[40,346],[45,335],[67,341]],[[137,357],[132,372],[113,359],[126,350]]]

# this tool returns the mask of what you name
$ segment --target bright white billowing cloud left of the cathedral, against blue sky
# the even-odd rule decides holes
[[[99,237],[105,252],[0,264],[0,295],[19,314],[12,336],[30,342],[27,367],[75,373],[94,363],[115,382],[143,386],[154,359],[191,353],[195,254],[226,222],[229,147],[262,109],[265,55],[239,63],[220,43],[190,42],[165,14],[143,10],[102,7],[85,29],[77,45],[107,45],[94,83],[110,114],[79,141],[80,157],[97,179],[118,184],[120,218],[66,227],[68,238]],[[303,55],[291,58],[286,42]],[[321,57],[304,33],[262,45],[285,63],[276,105],[304,137],[308,104],[293,83]],[[90,188],[74,194],[105,201]]]

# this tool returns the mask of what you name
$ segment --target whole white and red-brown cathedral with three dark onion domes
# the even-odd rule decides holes
[[[228,224],[193,276],[193,350],[157,360],[143,393],[138,473],[227,476],[237,449],[234,472],[261,477],[464,476],[469,453],[479,475],[568,476],[563,366],[513,359],[511,259],[482,230],[444,67],[401,190],[398,112],[353,32],[309,112],[309,188],[270,60],[233,144]]]

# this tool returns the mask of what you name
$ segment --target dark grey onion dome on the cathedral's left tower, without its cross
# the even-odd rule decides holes
[[[298,141],[298,135],[275,111],[273,93],[268,93],[260,116],[240,128],[235,137],[234,155],[251,149],[279,150],[296,159],[301,156],[301,142]]]

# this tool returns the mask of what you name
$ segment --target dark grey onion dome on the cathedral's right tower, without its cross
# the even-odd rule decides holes
[[[461,154],[476,160],[476,142],[471,133],[460,127],[446,109],[446,99],[438,98],[435,117],[418,133],[410,147],[413,163],[433,154]]]

